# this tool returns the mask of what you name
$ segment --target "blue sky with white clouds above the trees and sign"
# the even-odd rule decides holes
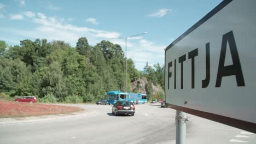
[[[36,38],[64,40],[75,46],[86,37],[94,46],[101,40],[119,44],[138,70],[164,64],[164,49],[221,1],[35,1],[0,0],[0,40],[19,45]]]

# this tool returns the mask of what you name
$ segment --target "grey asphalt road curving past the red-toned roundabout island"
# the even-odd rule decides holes
[[[136,105],[135,116],[114,116],[109,105],[74,105],[87,115],[0,123],[0,143],[175,143],[176,111]],[[256,143],[256,134],[188,115],[187,143]]]

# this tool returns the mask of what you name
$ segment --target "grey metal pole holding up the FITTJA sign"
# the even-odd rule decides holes
[[[186,121],[187,116],[183,111],[176,111],[176,144],[185,144],[186,143]]]

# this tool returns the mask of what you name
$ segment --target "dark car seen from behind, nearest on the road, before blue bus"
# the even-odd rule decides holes
[[[124,114],[134,116],[135,106],[131,101],[119,100],[113,105],[112,113],[115,114],[115,116]]]

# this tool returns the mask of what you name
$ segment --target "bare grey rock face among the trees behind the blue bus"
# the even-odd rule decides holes
[[[148,83],[148,80],[146,79],[146,77],[141,77],[140,79],[133,81],[131,83],[131,91],[147,94],[146,92],[147,83]],[[156,94],[157,92],[164,92],[164,89],[162,89],[160,86],[153,85],[153,83],[152,83],[152,88],[153,88],[153,94]]]

